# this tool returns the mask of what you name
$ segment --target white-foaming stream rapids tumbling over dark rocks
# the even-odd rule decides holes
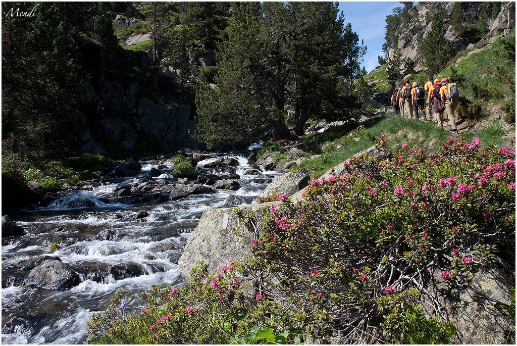
[[[185,284],[177,263],[203,211],[253,203],[278,175],[248,162],[256,147],[204,158],[197,179],[174,178],[169,160],[141,161],[133,176],[112,174],[10,214],[25,235],[3,238],[2,343],[83,343],[86,321],[116,290]],[[49,289],[31,280],[45,259],[64,263],[44,262],[68,270],[71,281]]]

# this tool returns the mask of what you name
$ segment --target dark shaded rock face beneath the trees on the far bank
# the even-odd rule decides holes
[[[91,105],[99,99],[110,114],[94,122],[84,119],[84,125],[88,125],[89,129],[81,138],[83,153],[105,154],[105,148],[94,139],[92,132],[117,142],[127,151],[132,151],[138,145],[138,138],[142,135],[150,138],[164,152],[202,147],[189,134],[189,130],[195,129],[189,104],[172,101],[156,104],[141,96],[138,83],[124,87],[118,81],[107,81],[102,84],[98,95],[90,84],[78,90],[80,100]]]

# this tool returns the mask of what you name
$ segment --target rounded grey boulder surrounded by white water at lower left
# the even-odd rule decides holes
[[[79,282],[79,274],[68,264],[57,260],[45,260],[23,280],[24,285],[34,285],[45,290],[64,290]]]

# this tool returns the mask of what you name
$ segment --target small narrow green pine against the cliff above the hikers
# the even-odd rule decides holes
[[[451,58],[450,42],[445,38],[447,28],[444,25],[444,13],[434,13],[431,31],[423,39],[422,54],[428,73],[434,74],[442,70]]]

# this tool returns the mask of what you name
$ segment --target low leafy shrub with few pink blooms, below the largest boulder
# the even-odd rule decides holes
[[[88,322],[89,343],[300,343],[303,321],[296,311],[279,316],[279,307],[246,298],[246,285],[236,278],[241,265],[231,261],[208,275],[194,268],[190,287],[154,285],[130,304],[129,291],[116,292],[103,313]],[[135,302],[134,302],[135,303]],[[275,317],[273,319],[272,317]],[[301,337],[301,338],[300,338]]]

